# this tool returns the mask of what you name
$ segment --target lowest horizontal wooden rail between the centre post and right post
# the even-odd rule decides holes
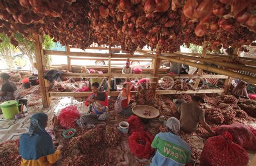
[[[222,93],[224,89],[200,89],[198,91],[195,90],[187,90],[187,91],[177,91],[177,90],[157,90],[157,95],[173,95],[173,94],[194,94],[194,93]]]

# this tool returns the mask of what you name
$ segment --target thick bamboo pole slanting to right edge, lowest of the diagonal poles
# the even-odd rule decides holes
[[[168,57],[168,56],[162,56],[161,55],[160,58],[164,59],[164,60],[171,60],[171,61],[177,62],[177,63],[187,64],[189,66],[201,68],[201,69],[204,69],[204,70],[207,70],[207,71],[211,71],[213,73],[219,73],[219,74],[223,74],[223,75],[230,76],[230,77],[233,77],[233,78],[239,78],[240,80],[244,80],[244,81],[247,81],[247,82],[250,82],[250,83],[256,83],[256,78],[255,77],[242,75],[242,74],[239,74],[239,73],[235,73],[233,71],[214,68],[214,67],[206,66],[204,64],[198,64],[198,63],[194,63],[194,62],[178,60],[176,58]]]

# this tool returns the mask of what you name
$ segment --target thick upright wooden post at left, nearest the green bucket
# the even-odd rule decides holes
[[[36,55],[40,91],[42,96],[42,103],[43,103],[43,107],[49,107],[51,104],[51,100],[48,93],[48,87],[46,87],[47,81],[45,82],[44,80],[45,56],[41,51],[43,40],[42,40],[42,37],[40,37],[37,34],[33,34],[33,39],[35,40],[35,55]]]

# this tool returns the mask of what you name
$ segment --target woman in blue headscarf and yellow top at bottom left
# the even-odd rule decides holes
[[[53,128],[57,125],[54,117],[49,127],[49,132],[54,133]],[[52,137],[46,132],[48,116],[45,113],[36,113],[30,118],[29,132],[19,138],[19,154],[22,156],[21,165],[53,165],[60,157],[62,145],[55,151]]]

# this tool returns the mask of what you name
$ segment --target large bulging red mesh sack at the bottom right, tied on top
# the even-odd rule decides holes
[[[232,135],[228,132],[208,139],[200,156],[200,166],[246,166],[248,161],[246,150],[232,142]]]

